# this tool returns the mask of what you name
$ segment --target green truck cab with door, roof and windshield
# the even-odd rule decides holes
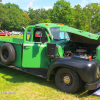
[[[33,68],[34,65],[36,68],[48,69],[51,63],[51,60],[47,56],[48,43],[66,42],[69,40],[68,34],[65,31],[60,31],[60,28],[63,26],[44,23],[37,24],[34,27],[27,27],[24,32],[22,67]],[[31,31],[30,36],[26,35],[29,29]],[[64,51],[62,48],[60,49],[61,53],[59,55],[63,57],[62,52]]]

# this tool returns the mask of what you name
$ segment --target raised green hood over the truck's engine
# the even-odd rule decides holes
[[[100,44],[100,36],[72,27],[62,27],[61,31],[66,31],[71,41],[80,43]]]

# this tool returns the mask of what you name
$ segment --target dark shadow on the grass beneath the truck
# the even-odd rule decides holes
[[[18,71],[12,68],[8,68],[5,66],[0,66],[0,73],[4,74],[2,76],[3,79],[5,79],[6,81],[12,82],[12,83],[26,83],[26,82],[33,82],[33,83],[38,83],[40,85],[44,85],[44,86],[48,86],[51,87],[57,91],[60,91],[54,82],[47,82],[46,79],[31,75],[31,74],[27,74],[25,72],[22,71]],[[7,78],[6,75],[11,76],[12,78]],[[83,86],[77,93],[72,94],[75,95],[78,98],[82,98],[82,97],[87,97],[89,96],[91,93],[85,93],[83,95],[82,94],[85,90],[85,87]],[[60,91],[62,92],[62,91]]]

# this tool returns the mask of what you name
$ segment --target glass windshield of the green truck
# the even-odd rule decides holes
[[[55,40],[69,39],[68,33],[65,31],[60,31],[60,27],[50,28],[51,34]]]

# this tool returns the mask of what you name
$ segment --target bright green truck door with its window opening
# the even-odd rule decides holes
[[[45,31],[45,35],[47,31]],[[48,68],[50,59],[47,58],[48,39],[42,43],[42,29],[36,28],[30,33],[30,39],[23,43],[22,67]]]

